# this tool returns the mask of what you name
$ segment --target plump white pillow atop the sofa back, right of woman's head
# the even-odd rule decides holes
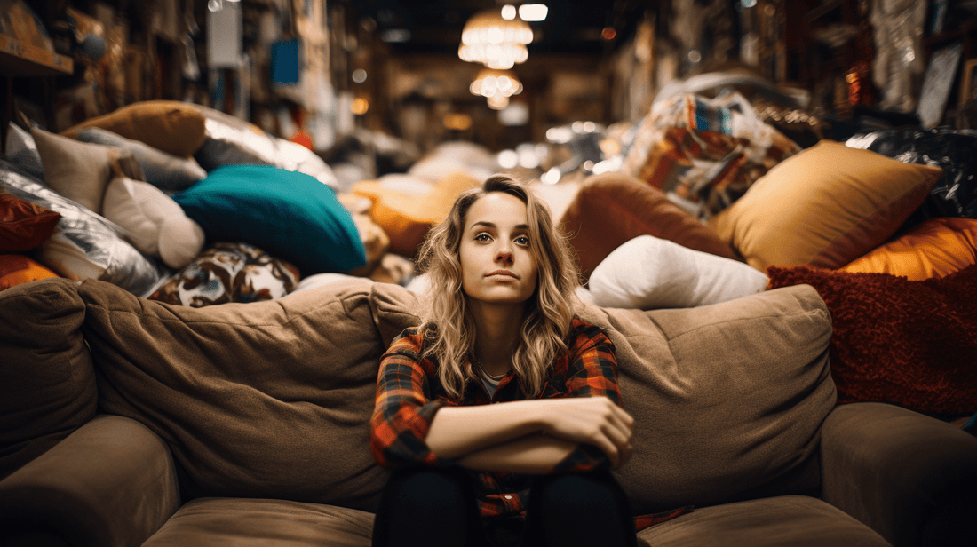
[[[721,256],[639,235],[590,275],[590,294],[604,308],[694,308],[766,290],[769,278]]]

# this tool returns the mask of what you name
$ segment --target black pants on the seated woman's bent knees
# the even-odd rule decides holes
[[[512,537],[513,541],[505,541]],[[469,474],[459,468],[394,472],[373,524],[374,547],[629,546],[637,543],[627,498],[607,471],[542,475],[531,486],[527,523],[482,525]]]

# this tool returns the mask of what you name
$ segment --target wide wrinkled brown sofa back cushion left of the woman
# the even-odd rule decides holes
[[[369,451],[379,358],[371,281],[205,308],[85,281],[83,330],[103,411],[146,424],[190,497],[371,510],[387,472]]]

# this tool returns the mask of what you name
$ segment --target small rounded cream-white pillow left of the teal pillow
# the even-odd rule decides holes
[[[170,268],[187,266],[203,248],[200,225],[172,197],[149,183],[113,178],[106,187],[102,214],[128,232],[126,238],[133,246],[160,257]]]

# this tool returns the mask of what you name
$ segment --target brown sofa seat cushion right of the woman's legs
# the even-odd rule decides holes
[[[788,495],[702,507],[638,533],[668,547],[889,547],[869,526],[820,499]]]

